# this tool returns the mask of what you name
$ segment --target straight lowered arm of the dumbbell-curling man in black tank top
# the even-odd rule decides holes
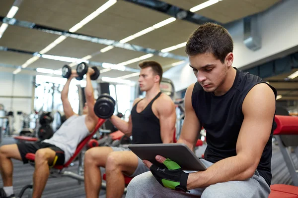
[[[175,104],[168,96],[162,96],[157,101],[159,101],[156,107],[159,115],[161,141],[162,143],[173,143],[176,122]]]

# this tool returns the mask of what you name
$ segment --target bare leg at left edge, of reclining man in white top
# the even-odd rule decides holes
[[[11,158],[22,160],[16,144],[0,147],[0,172],[3,186],[12,186],[13,164]]]

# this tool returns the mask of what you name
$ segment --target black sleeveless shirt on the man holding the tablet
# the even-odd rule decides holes
[[[235,68],[236,69],[236,68]],[[207,131],[207,148],[204,158],[213,163],[236,155],[236,143],[244,119],[242,103],[247,93],[255,85],[266,83],[258,76],[236,69],[232,87],[223,96],[205,92],[202,86],[195,83],[192,93],[192,106],[202,126]],[[277,95],[276,89],[268,85]],[[272,120],[272,126],[274,119]],[[257,170],[270,186],[272,135],[264,148]],[[257,137],[256,137],[257,138]]]

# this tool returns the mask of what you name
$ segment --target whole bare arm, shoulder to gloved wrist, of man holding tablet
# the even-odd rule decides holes
[[[244,120],[236,144],[237,155],[216,162],[206,171],[191,173],[187,189],[251,178],[270,137],[275,102],[268,85],[261,83],[253,87],[242,104]]]

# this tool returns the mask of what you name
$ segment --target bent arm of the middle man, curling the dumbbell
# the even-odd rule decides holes
[[[140,99],[135,99],[133,106],[139,101]],[[132,123],[132,117],[129,116],[129,120],[128,122],[122,120],[121,118],[119,118],[116,115],[112,115],[112,117],[110,118],[110,121],[112,122],[112,124],[119,129],[120,131],[122,131],[125,135],[127,136],[131,136],[132,135],[132,130],[133,130],[133,123]]]

